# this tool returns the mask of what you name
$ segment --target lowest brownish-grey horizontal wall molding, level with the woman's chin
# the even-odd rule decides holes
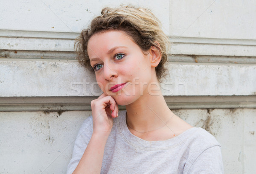
[[[0,97],[0,112],[91,110],[90,102],[98,97]],[[164,96],[170,109],[256,108],[250,96]],[[119,109],[125,109],[119,106]]]

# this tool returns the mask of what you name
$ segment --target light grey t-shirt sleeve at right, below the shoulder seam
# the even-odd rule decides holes
[[[204,150],[192,163],[188,174],[223,174],[221,147],[216,145]]]

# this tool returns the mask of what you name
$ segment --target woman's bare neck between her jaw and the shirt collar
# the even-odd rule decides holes
[[[137,101],[126,106],[126,121],[137,132],[149,132],[165,125],[173,116],[160,90],[154,95],[144,93]]]

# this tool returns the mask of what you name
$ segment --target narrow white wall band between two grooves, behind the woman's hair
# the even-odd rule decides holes
[[[73,52],[80,33],[0,30],[0,50]],[[169,36],[170,54],[256,56],[256,40]]]

